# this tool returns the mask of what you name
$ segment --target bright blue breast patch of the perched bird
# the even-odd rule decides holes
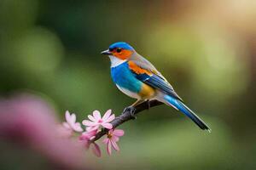
[[[130,71],[127,62],[111,68],[111,77],[113,82],[121,88],[125,88],[134,93],[141,91],[143,82],[139,81]]]

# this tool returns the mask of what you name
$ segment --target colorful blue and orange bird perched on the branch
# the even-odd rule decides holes
[[[102,54],[108,55],[111,61],[111,77],[117,88],[137,101],[126,108],[134,116],[135,106],[157,99],[183,112],[201,129],[210,131],[210,127],[201,120],[181,99],[166,81],[160,71],[157,71],[147,59],[137,54],[134,48],[126,42],[115,42]]]

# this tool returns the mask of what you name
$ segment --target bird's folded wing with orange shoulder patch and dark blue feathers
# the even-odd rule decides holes
[[[128,65],[130,70],[135,74],[138,80],[148,84],[153,88],[160,89],[165,94],[169,94],[175,99],[182,99],[176,94],[171,84],[166,81],[159,71],[157,71],[147,59],[129,59]]]

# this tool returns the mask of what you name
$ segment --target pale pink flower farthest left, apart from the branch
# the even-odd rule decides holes
[[[81,124],[79,122],[76,122],[76,115],[73,113],[70,115],[69,111],[66,111],[65,113],[66,121],[63,122],[62,125],[69,131],[75,131],[78,133],[83,132],[83,128],[81,127]]]

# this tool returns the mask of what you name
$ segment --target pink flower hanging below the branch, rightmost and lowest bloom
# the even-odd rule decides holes
[[[106,139],[103,139],[103,143],[107,144],[107,151],[108,151],[108,155],[111,155],[111,148],[113,148],[114,150],[119,151],[119,146],[117,144],[117,142],[119,141],[119,137],[124,135],[124,131],[121,129],[114,129],[114,130],[109,130],[108,131],[108,136]]]

